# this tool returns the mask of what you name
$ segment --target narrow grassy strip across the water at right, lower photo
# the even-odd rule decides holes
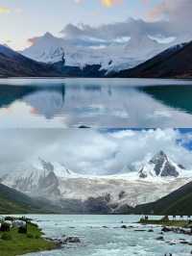
[[[163,220],[163,219],[140,219],[140,224],[151,224],[151,225],[160,225],[160,226],[173,226],[173,227],[187,227],[187,220]]]

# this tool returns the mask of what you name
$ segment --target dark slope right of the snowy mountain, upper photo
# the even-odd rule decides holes
[[[151,60],[114,76],[137,78],[190,78],[192,77],[192,42],[165,50]]]

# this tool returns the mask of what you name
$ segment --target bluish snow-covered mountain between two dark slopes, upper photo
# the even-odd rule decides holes
[[[159,43],[138,33],[131,38],[116,38],[110,42],[98,38],[57,38],[46,33],[31,39],[31,42],[32,45],[21,53],[37,62],[60,63],[64,55],[68,69],[94,65],[100,66],[98,71],[106,70],[107,73],[143,63],[173,45]]]

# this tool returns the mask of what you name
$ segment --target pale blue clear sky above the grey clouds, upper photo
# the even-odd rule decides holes
[[[113,2],[110,7],[104,2]],[[162,0],[0,0],[0,40],[15,48],[46,31],[58,36],[68,23],[99,26],[145,18]]]

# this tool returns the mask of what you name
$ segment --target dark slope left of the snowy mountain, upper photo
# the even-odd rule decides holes
[[[58,76],[60,72],[50,64],[37,63],[12,49],[0,45],[0,77]]]

